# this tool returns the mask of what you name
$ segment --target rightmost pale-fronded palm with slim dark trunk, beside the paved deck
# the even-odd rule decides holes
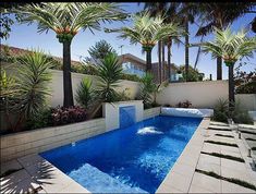
[[[220,57],[229,68],[229,107],[234,107],[234,63],[244,57],[253,57],[256,49],[256,37],[246,37],[246,32],[241,29],[237,34],[231,32],[230,27],[221,31],[215,29],[215,40],[202,44],[204,52],[211,52],[214,58]]]

